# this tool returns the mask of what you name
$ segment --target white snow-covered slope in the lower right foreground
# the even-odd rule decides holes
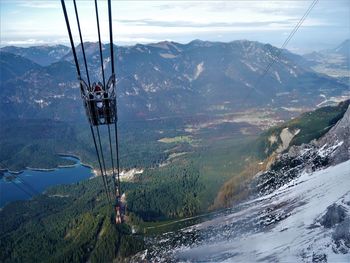
[[[350,262],[350,161],[150,242],[153,261]]]

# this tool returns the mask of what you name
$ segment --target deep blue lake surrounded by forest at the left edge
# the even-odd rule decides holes
[[[62,157],[74,160],[76,164],[72,167],[57,168],[53,171],[24,170],[16,175],[12,181],[5,178],[13,174],[5,172],[0,179],[0,207],[16,200],[31,199],[34,191],[42,193],[48,187],[59,184],[72,184],[94,176],[92,170],[83,166],[79,159],[73,157]]]

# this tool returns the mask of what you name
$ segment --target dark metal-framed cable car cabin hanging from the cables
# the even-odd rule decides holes
[[[114,123],[116,121],[116,96],[112,77],[108,81],[107,89],[101,82],[93,83],[91,88],[83,82],[83,87],[84,106],[91,125]]]

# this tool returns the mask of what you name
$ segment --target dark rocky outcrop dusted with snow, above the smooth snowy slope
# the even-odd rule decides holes
[[[344,116],[320,139],[291,146],[270,169],[259,173],[251,184],[258,195],[273,192],[303,172],[313,172],[350,159],[350,106]],[[350,172],[349,172],[350,173]]]

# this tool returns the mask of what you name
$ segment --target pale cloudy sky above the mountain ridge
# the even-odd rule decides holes
[[[73,1],[65,0],[78,44]],[[102,41],[108,42],[107,1],[98,0]],[[112,0],[113,39],[119,45],[194,39],[247,39],[280,47],[312,0]],[[93,0],[77,0],[84,41],[97,41]],[[59,0],[0,0],[0,45],[69,45]],[[319,0],[287,49],[307,53],[350,38],[350,1]]]

